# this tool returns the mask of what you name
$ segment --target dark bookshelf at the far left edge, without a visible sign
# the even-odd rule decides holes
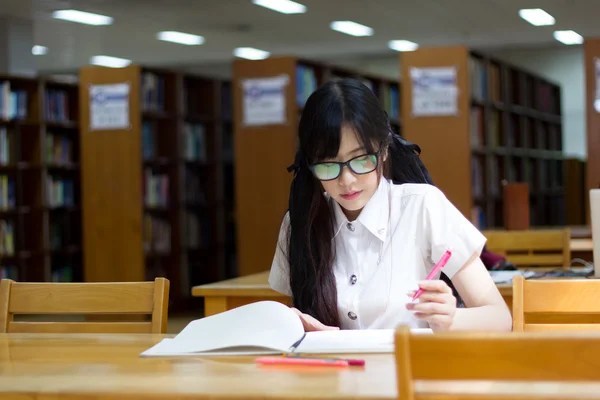
[[[0,76],[0,278],[82,280],[77,85]]]

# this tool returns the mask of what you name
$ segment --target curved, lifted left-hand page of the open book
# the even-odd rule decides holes
[[[286,352],[303,334],[300,318],[289,307],[261,301],[192,321],[175,338],[163,339],[142,356]]]

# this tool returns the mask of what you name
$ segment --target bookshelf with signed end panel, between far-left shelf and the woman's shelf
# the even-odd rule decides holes
[[[186,307],[191,286],[227,277],[227,82],[138,65],[85,67],[80,81],[86,280],[164,276],[171,309]],[[130,126],[91,130],[88,87],[119,83]]]

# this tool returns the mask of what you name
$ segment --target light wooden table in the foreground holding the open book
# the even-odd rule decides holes
[[[251,357],[138,357],[160,339],[158,335],[0,334],[0,399],[397,398],[392,354],[366,355],[365,367],[341,369],[261,368]],[[600,383],[417,382],[415,389],[431,394],[429,399],[460,392],[600,399]]]

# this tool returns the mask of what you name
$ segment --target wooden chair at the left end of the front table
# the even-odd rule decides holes
[[[169,281],[118,283],[0,282],[0,333],[165,333]],[[25,322],[18,314],[152,315],[151,321]],[[132,318],[133,319],[133,318]]]

